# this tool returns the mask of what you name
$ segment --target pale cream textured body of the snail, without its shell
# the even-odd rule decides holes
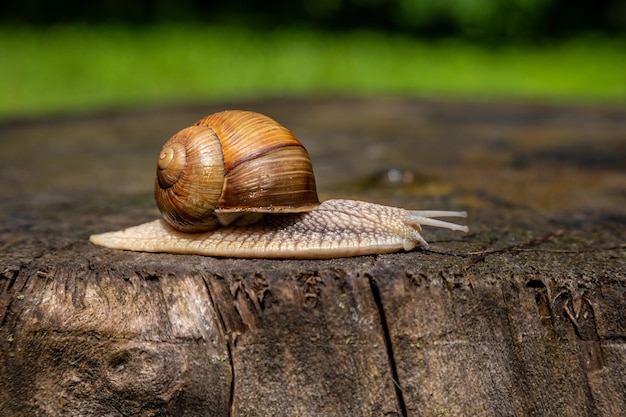
[[[353,200],[328,200],[308,213],[267,215],[244,227],[184,233],[163,220],[90,241],[114,249],[233,258],[324,259],[409,251],[427,246],[422,225],[467,231],[432,217],[466,217],[456,211],[410,211]]]

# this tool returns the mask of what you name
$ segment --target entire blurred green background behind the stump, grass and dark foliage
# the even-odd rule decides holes
[[[298,94],[621,105],[625,45],[626,0],[6,1],[0,119]]]

